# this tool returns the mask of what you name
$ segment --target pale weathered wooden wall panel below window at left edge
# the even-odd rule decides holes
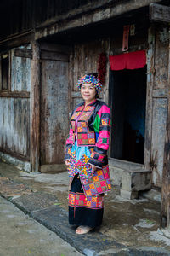
[[[30,100],[0,98],[0,150],[29,160]]]

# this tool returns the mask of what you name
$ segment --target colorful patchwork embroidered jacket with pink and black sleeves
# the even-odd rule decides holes
[[[78,146],[88,146],[88,164],[97,166],[92,177],[80,177],[85,196],[95,196],[111,190],[107,159],[111,133],[111,110],[104,102],[95,100],[88,106],[77,106],[71,115],[71,129],[66,140],[65,160],[71,159],[71,148],[77,137]],[[70,180],[70,186],[73,177]]]

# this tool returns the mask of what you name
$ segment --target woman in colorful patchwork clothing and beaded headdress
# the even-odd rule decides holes
[[[102,223],[104,194],[111,190],[107,150],[111,133],[111,110],[97,100],[99,79],[85,75],[78,80],[84,100],[71,115],[66,140],[65,164],[70,175],[69,223],[85,234]]]

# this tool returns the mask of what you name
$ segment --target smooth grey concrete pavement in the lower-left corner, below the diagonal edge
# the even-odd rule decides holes
[[[0,197],[1,256],[82,255],[54,232]]]

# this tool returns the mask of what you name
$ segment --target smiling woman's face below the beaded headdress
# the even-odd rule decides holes
[[[85,102],[93,102],[96,96],[95,87],[91,84],[82,84],[81,95]]]

